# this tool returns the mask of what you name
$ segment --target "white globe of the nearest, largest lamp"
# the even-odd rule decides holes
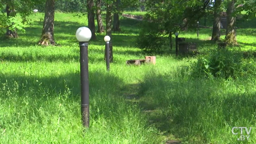
[[[81,27],[76,30],[76,39],[79,42],[88,42],[92,37],[92,32],[87,27]]]

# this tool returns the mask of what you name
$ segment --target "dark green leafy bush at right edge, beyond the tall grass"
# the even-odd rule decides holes
[[[190,68],[193,77],[238,78],[256,75],[254,58],[244,58],[243,52],[228,49],[212,50],[208,55],[199,57]]]

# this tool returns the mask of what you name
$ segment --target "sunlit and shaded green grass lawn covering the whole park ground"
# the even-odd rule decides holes
[[[75,32],[87,25],[87,18],[56,13],[54,37],[61,46],[48,47],[36,45],[44,14],[30,18],[26,33],[18,33],[20,38],[0,39],[0,143],[240,143],[231,133],[234,126],[252,127],[249,142],[256,143],[256,77],[192,79],[184,67],[197,56],[176,57],[167,43],[164,52],[141,51],[134,47],[140,21],[123,17],[122,32],[113,33],[109,73],[105,34],[90,41],[90,129],[83,129]],[[241,51],[256,50],[253,23],[238,20]],[[209,41],[211,31],[200,29],[199,38],[196,31],[179,36],[197,43],[204,55],[217,48]],[[225,31],[221,33],[224,38]],[[156,65],[125,64],[146,55],[156,56]]]

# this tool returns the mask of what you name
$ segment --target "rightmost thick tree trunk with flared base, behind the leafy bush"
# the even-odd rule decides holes
[[[228,3],[228,9],[227,9],[227,22],[228,27],[226,29],[226,37],[225,42],[228,44],[237,44],[236,41],[236,17],[233,17],[232,14],[235,11],[235,3],[236,0],[232,0]]]

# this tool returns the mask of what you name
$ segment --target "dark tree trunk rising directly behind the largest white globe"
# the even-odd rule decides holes
[[[93,0],[87,0],[88,28],[92,32],[92,38],[91,38],[92,40],[96,39],[93,6],[94,6]]]

